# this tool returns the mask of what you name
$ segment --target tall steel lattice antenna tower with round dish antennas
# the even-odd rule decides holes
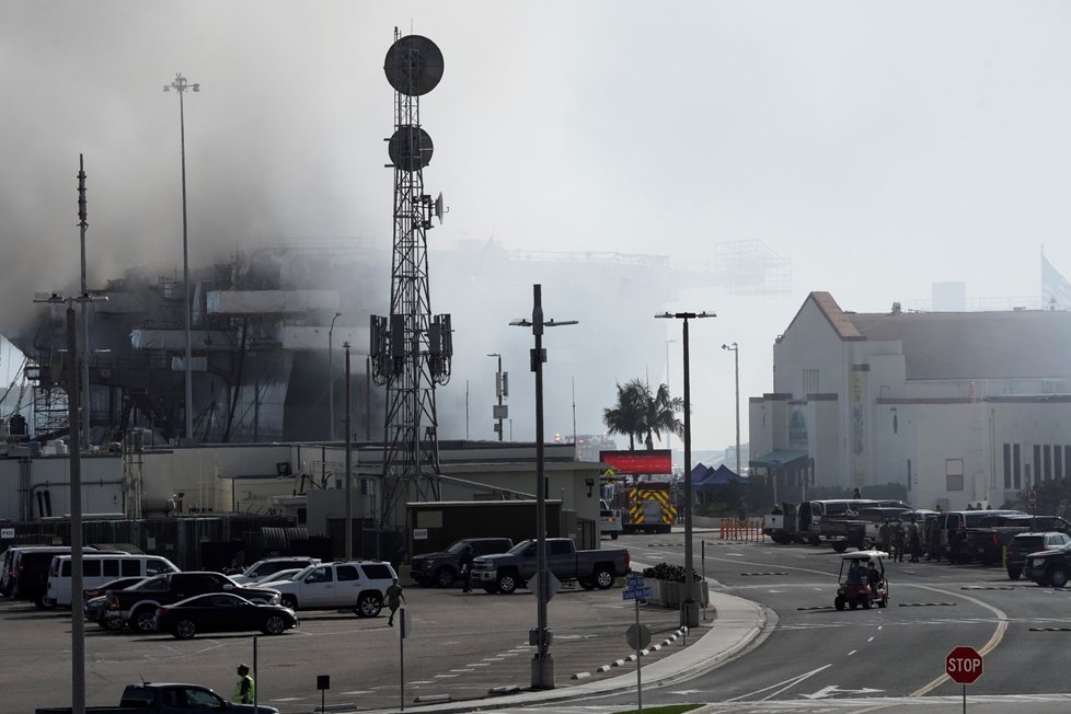
[[[399,35],[383,70],[394,88],[394,134],[388,153],[394,170],[394,251],[391,313],[372,315],[369,354],[372,379],[387,384],[383,435],[383,500],[387,528],[399,502],[439,499],[438,418],[435,385],[450,380],[453,354],[450,315],[431,314],[427,231],[442,222],[442,194],[424,193],[431,137],[421,127],[421,95],[442,78],[442,54],[427,37]],[[396,526],[396,523],[395,523]]]

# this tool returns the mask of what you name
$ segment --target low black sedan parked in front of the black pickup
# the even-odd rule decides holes
[[[189,640],[198,632],[260,630],[280,635],[298,626],[298,615],[281,604],[254,604],[229,592],[197,595],[157,610],[156,629]]]

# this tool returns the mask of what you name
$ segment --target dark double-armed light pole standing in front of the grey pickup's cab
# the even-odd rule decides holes
[[[531,368],[536,372],[536,631],[532,633],[537,646],[532,660],[532,689],[554,688],[554,658],[551,657],[550,631],[546,626],[546,597],[549,571],[546,569],[546,490],[543,459],[543,362],[546,354],[543,350],[543,329],[560,325],[575,325],[576,320],[543,322],[542,286],[532,286],[532,319],[514,320],[509,323],[517,327],[531,327],[536,347],[531,352]]]

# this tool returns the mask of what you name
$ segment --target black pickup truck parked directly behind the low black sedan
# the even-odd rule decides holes
[[[108,610],[104,617],[116,630],[127,624],[135,632],[152,632],[157,608],[207,592],[231,592],[252,602],[269,604],[278,604],[281,599],[278,590],[239,585],[220,573],[165,573],[126,590],[106,591]]]

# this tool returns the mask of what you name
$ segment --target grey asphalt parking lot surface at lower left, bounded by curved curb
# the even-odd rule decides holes
[[[398,706],[418,698],[480,698],[494,688],[527,689],[531,682],[528,631],[536,623],[536,599],[527,590],[511,596],[460,589],[410,587],[405,590],[412,632],[400,644],[399,629],[387,624],[385,611],[360,619],[349,612],[299,612],[300,625],[279,636],[258,635],[256,682],[261,703],[283,712],[311,712],[320,704],[316,676],[329,675],[329,704],[358,709]],[[676,631],[675,610],[642,607],[641,620],[654,642]],[[554,634],[551,654],[555,681],[622,673],[599,667],[627,657],[625,630],[634,621],[620,588],[586,591],[563,589],[548,606]],[[70,615],[33,604],[0,599],[0,684],[4,711],[32,712],[35,706],[70,704]],[[670,654],[683,643],[654,652],[645,661]],[[404,656],[404,671],[400,663]],[[180,641],[166,634],[105,632],[85,624],[88,705],[116,705],[130,682],[181,681],[211,687],[229,695],[239,663],[254,666],[252,634],[198,635]],[[634,665],[630,665],[634,668]],[[39,686],[61,682],[43,699]],[[590,678],[588,680],[590,680]]]

